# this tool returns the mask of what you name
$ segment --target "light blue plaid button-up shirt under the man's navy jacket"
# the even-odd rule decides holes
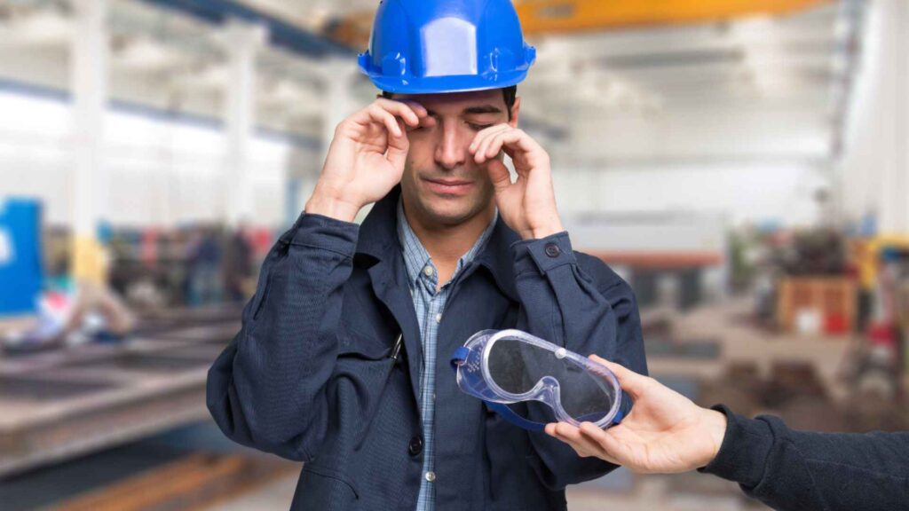
[[[433,259],[414,234],[404,215],[404,205],[398,201],[397,224],[398,239],[401,241],[404,262],[407,268],[407,284],[410,286],[410,295],[414,298],[416,320],[420,325],[420,335],[423,343],[423,365],[420,371],[420,410],[423,415],[423,478],[420,485],[420,496],[417,499],[417,511],[435,510],[435,443],[433,431],[435,429],[435,344],[439,333],[439,323],[442,322],[442,313],[445,303],[453,288],[454,281],[461,274],[464,266],[470,263],[474,256],[483,250],[486,240],[493,232],[495,219],[486,227],[483,234],[476,240],[474,246],[458,259],[451,280],[445,283],[438,292],[438,271],[433,265]]]

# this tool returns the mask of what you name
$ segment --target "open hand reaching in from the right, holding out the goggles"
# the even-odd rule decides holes
[[[623,366],[590,357],[614,373],[634,399],[631,414],[607,430],[590,423],[580,428],[559,423],[546,433],[564,441],[579,456],[596,456],[640,474],[687,472],[710,463],[726,431],[723,414],[694,405],[687,397]]]

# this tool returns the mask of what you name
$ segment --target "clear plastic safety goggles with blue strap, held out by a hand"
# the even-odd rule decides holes
[[[483,330],[454,352],[452,367],[464,393],[516,426],[542,431],[545,423],[508,405],[539,401],[555,420],[579,426],[618,424],[622,389],[605,366],[520,330]]]

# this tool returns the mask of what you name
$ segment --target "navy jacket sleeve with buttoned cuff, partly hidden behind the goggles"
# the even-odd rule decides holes
[[[565,346],[596,354],[647,374],[641,320],[631,288],[599,260],[575,254],[567,233],[517,242],[512,246],[520,312],[517,328]],[[624,402],[624,412],[630,402]],[[528,404],[538,422],[551,422],[548,407]],[[540,459],[538,476],[562,489],[594,479],[615,466],[578,457],[571,447],[545,434],[530,434]]]

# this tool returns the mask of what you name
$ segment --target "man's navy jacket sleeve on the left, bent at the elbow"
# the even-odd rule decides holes
[[[208,372],[208,409],[235,442],[295,460],[314,456],[357,234],[355,224],[301,215],[266,256],[241,330]]]

